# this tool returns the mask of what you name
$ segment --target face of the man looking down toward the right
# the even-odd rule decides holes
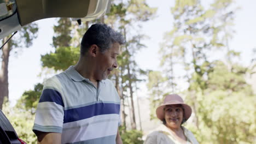
[[[99,53],[96,65],[96,80],[107,79],[110,71],[118,67],[117,56],[119,55],[120,45],[114,43],[104,53]]]

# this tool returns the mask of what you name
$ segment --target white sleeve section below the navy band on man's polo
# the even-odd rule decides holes
[[[54,125],[62,127],[64,111],[61,105],[54,102],[38,103],[34,123],[47,126]]]

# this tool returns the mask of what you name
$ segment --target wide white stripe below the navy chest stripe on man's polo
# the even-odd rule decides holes
[[[63,124],[62,143],[97,139],[116,135],[119,115],[100,115],[81,121]],[[72,134],[72,136],[71,136]]]

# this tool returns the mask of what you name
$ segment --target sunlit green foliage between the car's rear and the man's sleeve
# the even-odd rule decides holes
[[[34,115],[31,112],[26,111],[24,106],[11,107],[9,103],[4,104],[3,112],[21,140],[28,144],[37,143],[37,137],[32,131]]]

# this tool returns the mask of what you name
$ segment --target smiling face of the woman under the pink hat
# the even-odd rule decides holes
[[[178,129],[181,127],[183,119],[182,105],[166,105],[164,111],[166,126],[168,128]]]

